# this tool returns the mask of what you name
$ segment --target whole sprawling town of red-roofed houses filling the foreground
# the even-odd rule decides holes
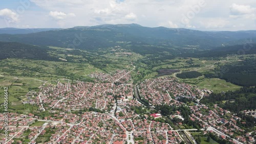
[[[173,77],[133,85],[127,70],[89,76],[96,80],[66,79],[27,93],[24,103],[38,109],[35,113],[9,113],[9,137],[1,135],[1,143],[197,143],[195,132],[232,143],[255,142],[252,132],[238,126],[246,122],[240,122],[236,114],[200,103],[208,97],[207,90]],[[193,103],[180,101],[182,98]],[[165,105],[189,108],[189,121],[197,122],[200,128],[185,122],[182,111],[165,115],[158,109]],[[0,117],[3,130],[5,119],[2,114]]]

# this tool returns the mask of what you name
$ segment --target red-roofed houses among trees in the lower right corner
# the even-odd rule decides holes
[[[227,137],[225,136],[227,135],[242,143],[246,143],[246,139],[249,140],[249,143],[253,143],[255,141],[253,135],[245,133],[243,129],[237,126],[237,122],[240,121],[241,118],[236,115],[230,114],[230,111],[228,110],[223,110],[217,105],[214,105],[214,107],[212,108],[209,108],[205,105],[196,105],[190,106],[190,109],[193,112],[193,114],[190,115],[190,118],[193,119],[193,121],[197,119],[198,121],[202,122],[202,127],[207,128],[211,126],[219,130],[224,134],[220,134],[220,138],[227,139]],[[224,114],[228,114],[230,117],[227,119],[222,118],[221,116],[223,116]]]

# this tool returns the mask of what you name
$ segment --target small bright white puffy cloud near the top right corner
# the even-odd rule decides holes
[[[242,14],[251,14],[255,12],[255,8],[251,8],[249,5],[238,5],[232,4],[230,6],[231,15],[242,15]]]

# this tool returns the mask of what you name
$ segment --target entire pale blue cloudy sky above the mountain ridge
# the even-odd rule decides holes
[[[254,0],[8,0],[0,28],[71,28],[138,23],[208,31],[256,30]]]

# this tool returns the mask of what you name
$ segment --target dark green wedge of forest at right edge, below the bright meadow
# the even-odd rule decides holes
[[[225,104],[223,103],[225,102]],[[240,90],[226,93],[211,93],[209,97],[201,100],[204,104],[219,104],[220,107],[233,112],[256,109],[256,86],[243,87]]]

